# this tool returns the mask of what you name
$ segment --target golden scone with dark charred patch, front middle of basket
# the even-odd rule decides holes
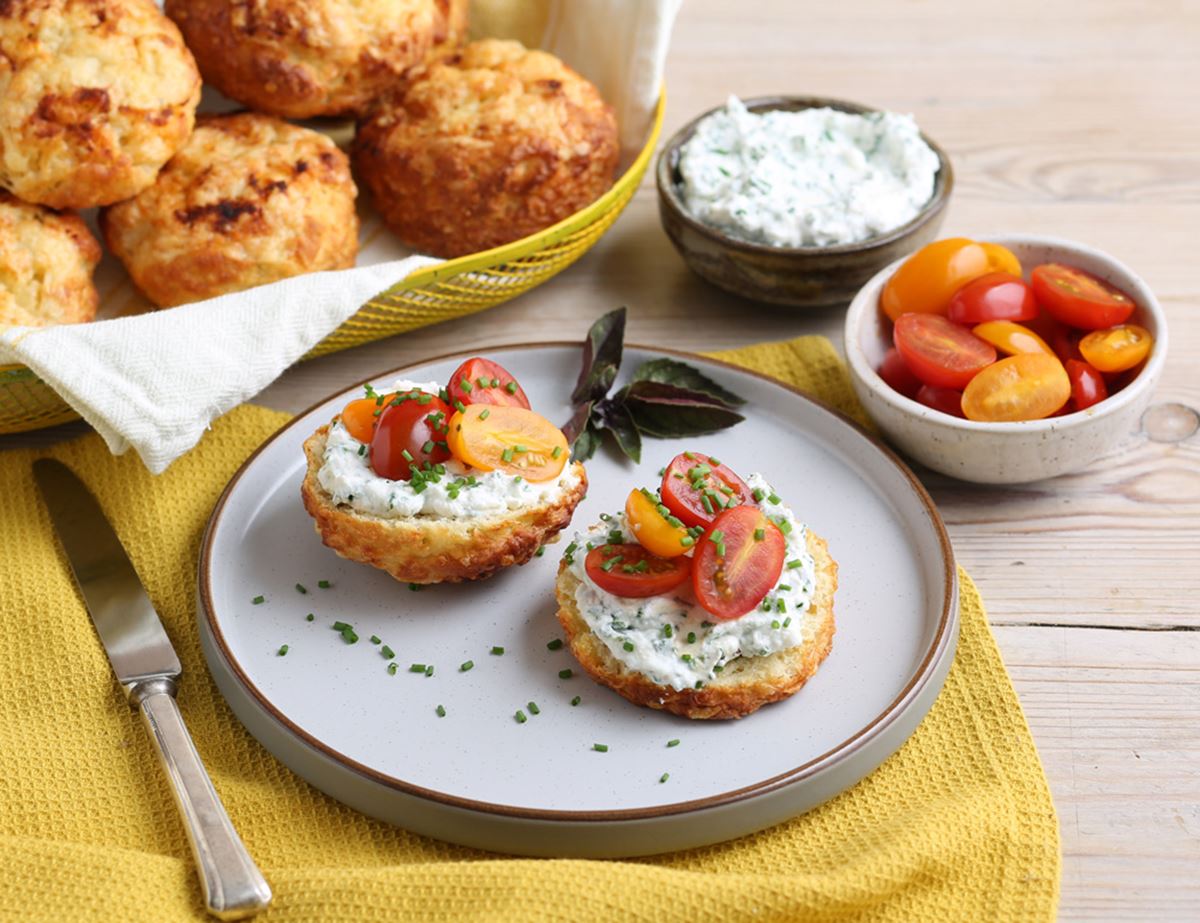
[[[324,134],[257,113],[202,115],[150,188],[101,212],[101,229],[137,287],[169,307],[353,266],[356,194]]]

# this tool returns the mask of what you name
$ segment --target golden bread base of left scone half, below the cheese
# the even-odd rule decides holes
[[[524,564],[571,521],[588,490],[583,466],[578,483],[553,503],[478,520],[384,520],[334,505],[317,472],[324,461],[322,426],[304,444],[308,471],[300,496],[320,540],[341,557],[385,570],[406,583],[458,583]]]

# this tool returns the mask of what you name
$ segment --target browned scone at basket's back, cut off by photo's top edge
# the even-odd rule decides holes
[[[204,79],[272,115],[359,112],[448,32],[442,0],[167,0]]]

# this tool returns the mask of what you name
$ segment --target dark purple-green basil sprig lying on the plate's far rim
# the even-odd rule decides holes
[[[734,409],[745,403],[742,397],[686,362],[666,356],[642,362],[632,380],[610,396],[624,338],[624,307],[608,312],[588,330],[580,378],[571,392],[575,413],[563,427],[575,460],[595,455],[605,432],[636,462],[642,460],[643,436],[702,436],[745,419]]]

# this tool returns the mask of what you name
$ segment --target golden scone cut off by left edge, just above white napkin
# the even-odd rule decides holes
[[[91,272],[100,244],[78,215],[0,190],[0,326],[91,320],[100,295]]]

